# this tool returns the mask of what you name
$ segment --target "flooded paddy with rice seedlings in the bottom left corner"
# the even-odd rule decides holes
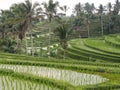
[[[0,90],[60,90],[45,84],[14,79],[10,76],[0,76]]]

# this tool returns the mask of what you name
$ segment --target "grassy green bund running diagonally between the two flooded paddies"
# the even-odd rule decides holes
[[[65,83],[63,81],[57,81],[54,79],[37,77],[37,76],[33,76],[31,74],[26,74],[26,73],[18,73],[18,72],[14,72],[12,70],[1,69],[0,74],[4,75],[4,76],[10,76],[10,77],[15,78],[15,79],[32,81],[34,83],[39,83],[39,84],[42,83],[42,84],[45,84],[48,86],[49,85],[54,86],[54,87],[57,87],[57,88],[63,89],[63,90],[72,90],[72,88],[73,88],[72,85]]]

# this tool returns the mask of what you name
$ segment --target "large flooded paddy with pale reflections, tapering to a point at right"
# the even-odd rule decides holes
[[[98,75],[79,73],[71,70],[60,70],[38,66],[0,65],[0,68],[12,69],[15,72],[25,72],[69,82],[72,85],[92,85],[105,82],[107,79]]]

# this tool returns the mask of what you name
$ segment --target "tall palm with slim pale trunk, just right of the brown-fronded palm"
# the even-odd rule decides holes
[[[42,8],[40,7],[39,3],[32,4],[31,1],[26,0],[25,3],[21,4],[21,8],[24,10],[26,21],[28,23],[28,28],[30,31],[30,37],[31,37],[31,48],[32,48],[32,56],[34,56],[34,45],[33,45],[33,35],[32,35],[32,28],[33,28],[33,21],[36,19],[39,19],[41,17],[40,13],[42,11]]]

